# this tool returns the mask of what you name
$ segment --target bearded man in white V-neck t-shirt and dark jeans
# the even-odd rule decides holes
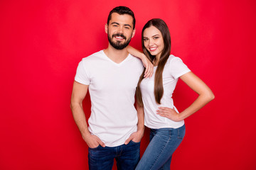
[[[89,169],[135,169],[144,134],[143,108],[134,108],[134,93],[143,65],[129,55],[127,45],[135,34],[134,13],[125,6],[110,11],[105,25],[107,49],[85,57],[78,65],[71,110],[87,143]],[[146,72],[153,67],[142,57]],[[87,127],[82,101],[90,91],[91,115]]]

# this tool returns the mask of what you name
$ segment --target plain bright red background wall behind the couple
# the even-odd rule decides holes
[[[107,15],[119,5],[137,18],[131,45],[141,49],[146,21],[164,19],[171,53],[215,94],[186,119],[171,168],[256,169],[253,0],[0,1],[0,169],[87,169],[87,145],[70,111],[73,80],[82,57],[107,47]],[[179,81],[179,111],[195,98]],[[146,129],[142,153],[148,138]]]

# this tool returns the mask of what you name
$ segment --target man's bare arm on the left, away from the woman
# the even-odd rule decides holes
[[[73,113],[75,123],[78,125],[82,138],[85,140],[88,147],[95,148],[98,145],[105,147],[105,144],[100,140],[99,137],[90,134],[87,127],[85,113],[82,108],[82,101],[87,94],[88,86],[89,85],[80,84],[77,81],[74,81],[70,108]]]

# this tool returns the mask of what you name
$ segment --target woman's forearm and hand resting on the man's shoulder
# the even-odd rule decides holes
[[[142,63],[144,67],[146,68],[144,77],[151,77],[154,72],[154,65],[149,61],[149,59],[144,55],[143,52],[140,52],[139,50],[135,49],[134,47],[128,45],[127,51],[134,55],[135,57],[138,57],[140,60],[142,60]]]

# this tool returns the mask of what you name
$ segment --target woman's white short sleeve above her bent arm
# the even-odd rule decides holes
[[[174,79],[178,79],[178,77],[191,72],[191,70],[188,69],[186,64],[184,64],[179,57],[173,57],[170,61],[170,72]]]

